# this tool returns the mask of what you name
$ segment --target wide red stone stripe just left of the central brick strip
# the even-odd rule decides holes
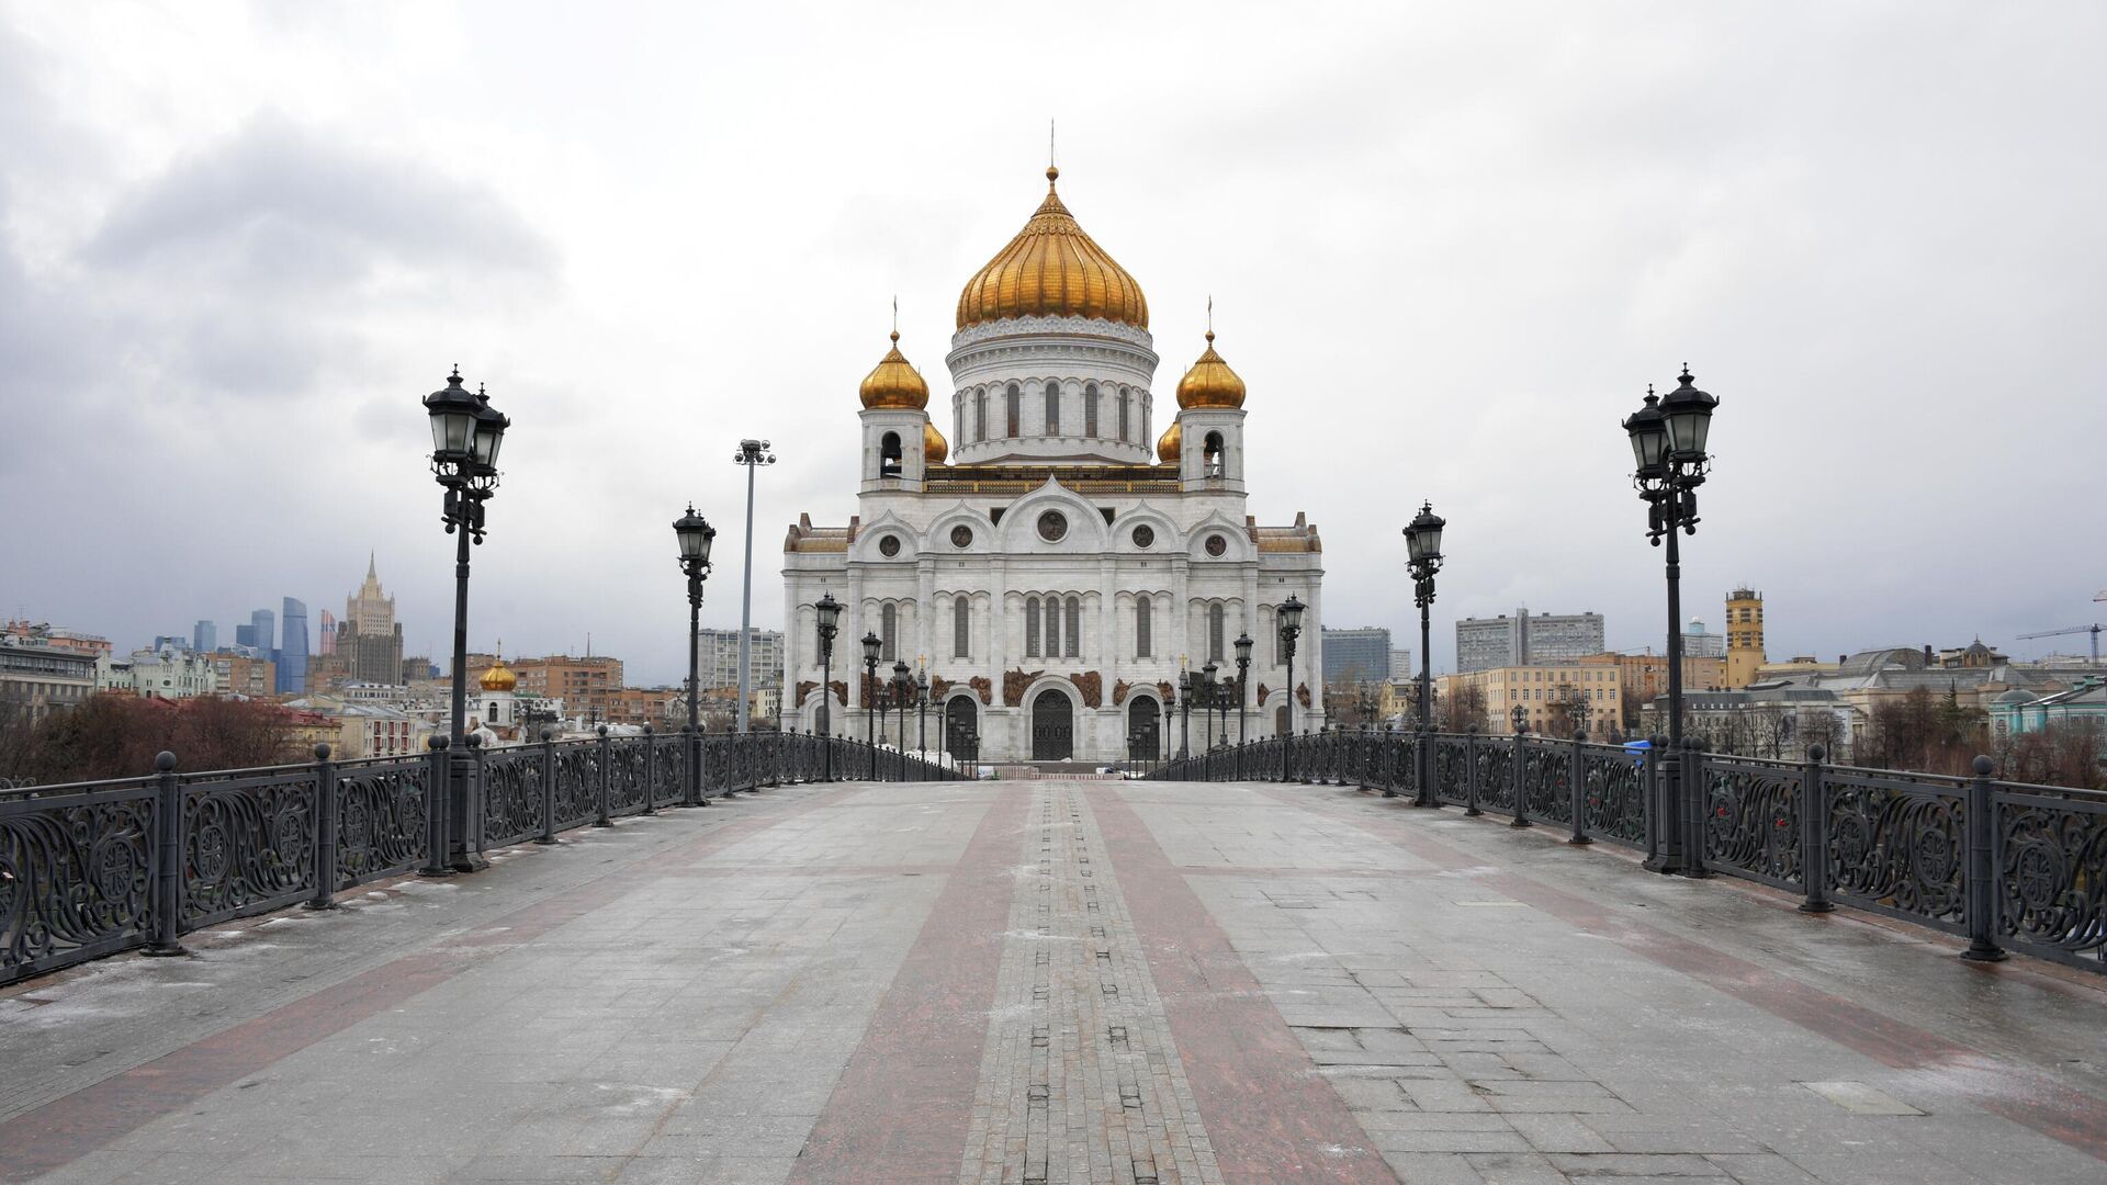
[[[980,816],[790,1181],[959,1179],[1028,805],[1009,784]]]

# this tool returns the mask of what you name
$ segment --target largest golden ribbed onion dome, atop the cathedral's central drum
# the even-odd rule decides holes
[[[1005,316],[1102,316],[1148,329],[1142,285],[1112,261],[1060,205],[1047,169],[1047,200],[1024,230],[959,293],[959,329]]]

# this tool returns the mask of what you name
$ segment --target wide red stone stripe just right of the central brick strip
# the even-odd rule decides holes
[[[1228,1181],[1384,1181],[1397,1174],[1323,1080],[1228,945],[1184,869],[1112,786],[1085,791],[1148,974]]]

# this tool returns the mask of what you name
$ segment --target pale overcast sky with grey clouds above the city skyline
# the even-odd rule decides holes
[[[2092,4],[0,2],[0,609],[120,647],[379,555],[445,654],[419,399],[514,428],[472,635],[683,675],[670,521],[737,624],[855,510],[855,384],[948,390],[959,287],[1045,190],[1142,283],[1169,394],[1216,299],[1260,523],[1334,626],[1597,609],[1660,645],[1618,420],[1719,396],[1686,605],[1770,654],[2084,637],[2103,563],[2107,8]],[[950,424],[942,422],[948,432]],[[1414,639],[1416,645],[1416,639]]]

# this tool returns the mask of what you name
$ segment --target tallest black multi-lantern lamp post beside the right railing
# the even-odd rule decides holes
[[[1698,487],[1711,468],[1705,439],[1711,413],[1719,401],[1696,388],[1690,367],[1667,399],[1646,388],[1646,403],[1624,420],[1631,436],[1631,458],[1637,464],[1633,485],[1646,502],[1646,536],[1660,546],[1667,538],[1669,576],[1669,751],[1660,755],[1660,850],[1646,867],[1656,873],[1692,871],[1683,854],[1681,757],[1683,757],[1683,557],[1677,533],[1698,533]]]

